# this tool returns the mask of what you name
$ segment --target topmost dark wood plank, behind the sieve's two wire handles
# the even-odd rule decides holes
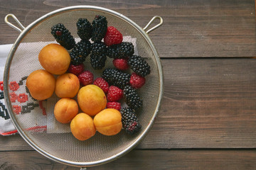
[[[0,18],[14,13],[24,26],[57,8],[95,5],[113,9],[146,26],[152,16],[164,25],[150,33],[160,57],[255,57],[255,3],[247,1],[22,1],[1,0]],[[0,21],[0,44],[14,43],[16,30]]]

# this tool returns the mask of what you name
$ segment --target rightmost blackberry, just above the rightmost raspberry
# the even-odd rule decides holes
[[[146,77],[146,75],[150,74],[149,64],[139,55],[132,55],[132,57],[129,57],[128,64],[130,65],[132,71],[142,77]]]

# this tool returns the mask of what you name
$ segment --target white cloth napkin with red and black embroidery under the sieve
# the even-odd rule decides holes
[[[78,42],[77,39],[75,41]],[[134,45],[134,54],[138,55],[136,38],[124,36],[124,41],[132,42]],[[14,89],[14,91],[10,90],[10,92],[13,92],[16,96],[27,96],[27,98],[25,98],[25,101],[22,101],[23,98],[21,97],[21,101],[17,99],[15,101],[11,101],[11,103],[13,106],[17,107],[14,108],[16,111],[14,111],[16,113],[16,118],[19,121],[18,123],[20,123],[22,128],[25,130],[31,130],[33,132],[42,132],[47,130],[48,133],[70,132],[69,124],[59,123],[54,118],[54,106],[60,98],[53,94],[53,96],[48,98],[46,101],[39,102],[31,98],[26,91],[25,77],[36,69],[43,69],[35,56],[38,56],[38,52],[41,50],[41,48],[48,43],[51,42],[28,42],[22,43],[18,46],[18,53],[20,55],[26,54],[28,56],[26,60],[24,60],[24,58],[13,60],[15,64],[12,65],[13,70],[11,72],[14,72],[15,74],[11,74],[14,76],[10,76],[9,81],[15,81],[14,84],[19,84],[19,86],[17,89]],[[4,67],[11,47],[12,45],[0,45],[0,81],[3,81],[4,78]],[[31,49],[31,47],[33,47],[33,49]],[[33,68],[28,67],[24,69],[23,67],[27,66],[28,63],[33,65]],[[23,84],[21,84],[21,82],[23,82]],[[1,93],[2,92],[3,91],[1,91]],[[0,99],[0,102],[3,105],[0,107],[0,111],[2,113],[0,114],[0,135],[13,135],[17,132],[17,130],[12,124],[6,111],[4,98]]]

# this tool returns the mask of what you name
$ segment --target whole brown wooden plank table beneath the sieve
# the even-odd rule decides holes
[[[90,169],[256,169],[255,1],[17,1],[0,0],[0,45],[24,26],[64,6],[94,5],[144,27],[164,69],[164,99],[153,128],[129,154]],[[20,135],[0,137],[0,169],[77,169],[31,148]]]

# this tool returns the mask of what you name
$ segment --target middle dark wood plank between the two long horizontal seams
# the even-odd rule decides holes
[[[137,148],[255,148],[255,59],[163,59],[164,99]],[[0,150],[31,149],[0,137]]]

